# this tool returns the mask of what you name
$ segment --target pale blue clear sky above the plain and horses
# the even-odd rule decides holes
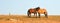
[[[0,0],[0,14],[27,14],[35,7],[46,8],[48,14],[60,14],[60,0]]]

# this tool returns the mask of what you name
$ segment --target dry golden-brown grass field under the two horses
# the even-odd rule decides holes
[[[45,18],[41,16],[41,18],[35,17],[27,17],[27,16],[19,16],[19,15],[0,15],[0,23],[60,23],[60,16],[48,16]]]

